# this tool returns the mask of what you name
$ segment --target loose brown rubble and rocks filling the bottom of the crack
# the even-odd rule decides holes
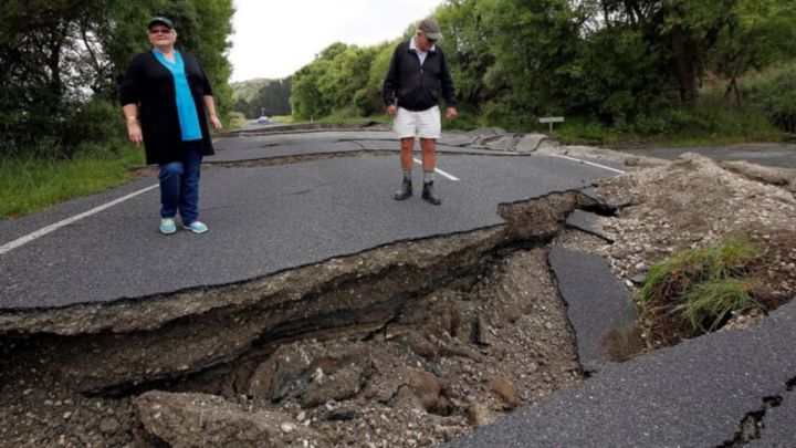
[[[45,350],[36,360],[7,346],[3,360],[14,362],[2,368],[0,440],[426,446],[582,381],[542,249],[501,259],[471,289],[417,303],[374,334],[268,344],[123,397],[84,396]]]

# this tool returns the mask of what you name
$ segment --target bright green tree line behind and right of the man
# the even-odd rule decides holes
[[[743,107],[741,76],[796,56],[796,0],[448,0],[434,17],[460,108],[515,129],[566,115],[666,132],[689,119],[706,80]],[[293,75],[294,115],[380,111],[392,50],[416,27],[379,45],[326,48]],[[774,122],[787,108],[769,106]]]

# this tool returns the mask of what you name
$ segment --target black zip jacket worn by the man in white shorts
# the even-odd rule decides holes
[[[448,106],[455,106],[453,79],[442,49],[429,50],[421,66],[408,41],[396,46],[381,92],[385,104],[397,101],[406,110],[426,111],[439,103],[440,91]]]

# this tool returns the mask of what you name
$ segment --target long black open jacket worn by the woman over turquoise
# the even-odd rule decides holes
[[[202,154],[212,155],[212,142],[205,116],[205,95],[212,95],[210,83],[197,59],[182,54],[186,77],[193,96],[202,133]],[[137,104],[147,164],[181,160],[182,134],[177,115],[174,76],[151,51],[137,54],[122,81],[122,105]]]

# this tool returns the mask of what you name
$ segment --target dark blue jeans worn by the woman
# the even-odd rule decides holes
[[[199,168],[201,140],[182,142],[182,160],[160,165],[160,217],[174,218],[179,210],[182,223],[199,218]]]

